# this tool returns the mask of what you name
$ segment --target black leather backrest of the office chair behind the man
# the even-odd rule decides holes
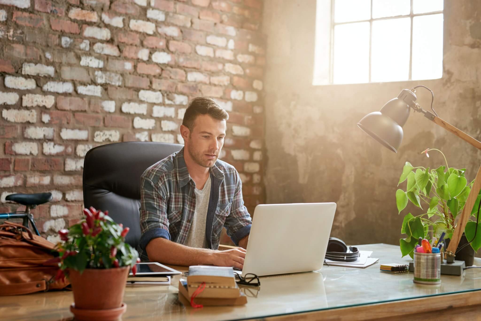
[[[84,206],[93,206],[129,227],[126,242],[140,240],[140,176],[151,165],[179,151],[183,145],[129,141],[101,145],[85,155]]]

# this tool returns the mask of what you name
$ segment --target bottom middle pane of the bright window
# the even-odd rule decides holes
[[[409,78],[411,18],[373,21],[371,81]]]

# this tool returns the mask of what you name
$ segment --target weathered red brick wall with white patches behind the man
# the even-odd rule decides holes
[[[117,141],[180,142],[186,104],[230,115],[222,159],[264,201],[261,0],[0,0],[0,212],[53,193],[43,235],[81,216],[83,157]]]

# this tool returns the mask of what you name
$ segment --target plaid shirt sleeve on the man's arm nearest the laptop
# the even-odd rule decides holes
[[[232,198],[232,204],[230,206],[230,213],[226,218],[224,227],[227,230],[227,235],[230,237],[234,244],[239,245],[244,237],[251,232],[252,219],[244,206],[244,200],[242,198],[242,181],[239,173],[236,171],[236,188],[234,197]]]

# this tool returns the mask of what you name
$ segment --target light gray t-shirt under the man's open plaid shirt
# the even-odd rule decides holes
[[[192,223],[190,224],[189,234],[184,245],[196,248],[207,248],[205,238],[205,221],[207,218],[207,208],[209,207],[211,179],[210,175],[202,190],[195,189],[195,211]]]

